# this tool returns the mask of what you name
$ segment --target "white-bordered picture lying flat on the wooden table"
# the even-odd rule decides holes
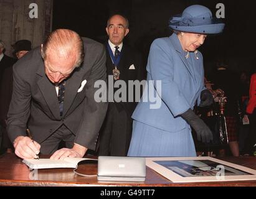
[[[146,157],[146,165],[174,183],[256,180],[256,170],[212,157]]]

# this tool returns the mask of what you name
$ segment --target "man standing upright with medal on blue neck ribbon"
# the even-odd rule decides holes
[[[123,80],[126,83],[126,101],[117,102],[115,99],[108,104],[108,112],[100,131],[99,155],[126,156],[131,139],[132,119],[136,102],[128,101],[128,81],[143,79],[143,63],[140,53],[128,45],[123,44],[123,39],[128,34],[128,19],[115,14],[108,19],[106,31],[108,42],[107,75],[109,95],[113,95],[110,81]],[[110,76],[111,75],[111,76]],[[114,80],[113,80],[114,79]],[[133,93],[134,94],[134,93]]]

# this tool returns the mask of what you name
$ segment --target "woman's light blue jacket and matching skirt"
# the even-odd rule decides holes
[[[154,92],[145,88],[143,98],[148,102],[143,102],[141,98],[133,113],[135,121],[128,155],[196,155],[191,128],[180,114],[200,103],[200,94],[204,90],[204,68],[200,52],[189,52],[189,58],[185,57],[186,54],[176,34],[156,39],[151,44],[146,70],[148,88],[154,80]],[[156,80],[161,80],[159,91],[156,91]],[[151,102],[149,95],[158,96],[161,106]]]

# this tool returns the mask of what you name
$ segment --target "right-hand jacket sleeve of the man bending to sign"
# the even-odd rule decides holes
[[[86,96],[83,118],[74,141],[75,143],[92,150],[96,147],[98,132],[100,131],[108,107],[107,102],[95,101],[94,94],[98,88],[95,88],[94,84],[97,80],[106,82],[106,76],[106,54],[105,48],[101,45],[101,48],[98,51],[97,60],[93,65],[92,72],[90,73],[85,86]],[[107,92],[107,86],[104,92]]]

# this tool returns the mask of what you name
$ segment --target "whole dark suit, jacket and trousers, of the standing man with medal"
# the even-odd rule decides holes
[[[113,75],[115,66],[111,60],[110,53],[108,52],[107,43],[105,45],[107,51],[107,75]],[[137,103],[135,101],[128,102],[128,96],[131,95],[131,93],[128,93],[128,81],[141,81],[143,79],[145,68],[140,53],[135,49],[131,49],[128,45],[123,44],[121,53],[122,55],[118,70],[120,71],[120,80],[123,80],[126,83],[126,102],[116,102],[115,99],[115,102],[109,101],[108,113],[100,132],[100,142],[98,142],[100,155],[125,156],[130,146],[132,129],[131,114]],[[134,65],[135,69],[129,69],[131,65]],[[113,95],[114,93],[111,93],[110,90],[115,92],[116,90],[119,90],[119,88],[110,88],[110,86],[113,86],[110,81],[112,81],[113,85],[115,84],[113,76],[108,78],[108,94]],[[133,93],[133,96],[135,98],[135,93]]]

